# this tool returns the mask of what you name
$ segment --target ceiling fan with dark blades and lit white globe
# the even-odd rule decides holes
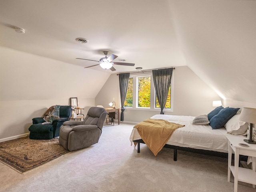
[[[110,69],[111,71],[116,71],[116,69],[113,67],[113,64],[114,65],[126,65],[126,66],[134,66],[135,64],[134,63],[122,63],[122,62],[113,62],[114,59],[116,59],[116,55],[112,54],[110,55],[109,57],[107,57],[107,55],[109,54],[109,51],[103,51],[105,57],[102,57],[100,59],[100,61],[97,61],[97,62],[100,62],[99,64],[97,65],[100,65],[100,67],[102,67],[103,69]],[[76,58],[76,59],[82,59],[82,58]],[[88,61],[95,61],[95,60],[90,60],[90,59],[83,59],[83,60],[88,60]],[[96,65],[91,65],[89,67],[94,67]],[[88,67],[84,67],[84,68],[88,68]]]

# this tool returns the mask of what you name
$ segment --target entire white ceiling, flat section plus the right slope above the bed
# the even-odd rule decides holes
[[[99,60],[104,50],[135,63],[108,73],[188,65],[223,99],[251,103],[255,34],[256,1],[0,0],[0,46],[81,67],[98,63],[75,58]]]

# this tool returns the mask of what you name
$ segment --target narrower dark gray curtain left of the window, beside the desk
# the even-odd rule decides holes
[[[121,119],[120,121],[124,121],[124,101],[126,99],[126,93],[129,83],[130,73],[121,73],[119,74],[119,89],[121,96]]]

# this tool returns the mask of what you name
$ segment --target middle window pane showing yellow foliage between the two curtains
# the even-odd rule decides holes
[[[138,107],[150,107],[150,77],[138,77]]]

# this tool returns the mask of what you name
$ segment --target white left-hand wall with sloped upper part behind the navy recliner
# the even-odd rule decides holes
[[[105,71],[0,47],[0,139],[29,133],[32,118],[52,105],[70,105],[70,97],[78,97],[86,114],[108,77]]]

